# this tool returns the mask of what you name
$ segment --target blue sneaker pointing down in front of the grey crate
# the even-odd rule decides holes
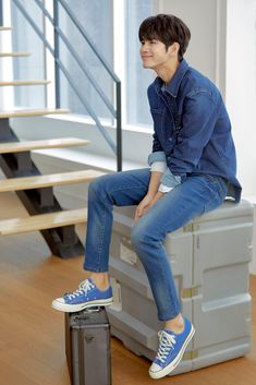
[[[158,353],[149,368],[151,378],[161,378],[172,372],[184,354],[186,346],[195,334],[192,323],[184,318],[184,330],[175,334],[171,330],[160,330]]]

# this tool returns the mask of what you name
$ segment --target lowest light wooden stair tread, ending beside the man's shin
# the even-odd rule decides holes
[[[86,222],[87,209],[78,208],[49,214],[38,214],[27,218],[0,220],[0,236],[39,231]]]

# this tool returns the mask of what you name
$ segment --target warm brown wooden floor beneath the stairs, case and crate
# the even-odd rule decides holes
[[[22,212],[12,194],[1,194],[13,213]],[[11,217],[13,213],[2,212]],[[70,385],[64,356],[64,317],[51,309],[54,297],[75,289],[84,278],[83,257],[63,261],[49,255],[38,233],[0,238],[0,384]],[[253,296],[253,348],[248,356],[207,369],[158,380],[172,385],[256,384],[256,276]],[[112,384],[147,385],[149,362],[112,339]],[[95,384],[97,385],[97,384]]]

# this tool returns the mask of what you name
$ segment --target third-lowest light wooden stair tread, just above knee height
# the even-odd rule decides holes
[[[33,149],[42,148],[62,148],[62,147],[75,147],[86,146],[89,141],[77,137],[62,137],[40,141],[28,141],[28,142],[9,142],[0,143],[0,154],[8,153],[23,153]]]

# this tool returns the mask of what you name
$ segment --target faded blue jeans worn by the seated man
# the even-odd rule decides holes
[[[113,206],[137,205],[147,194],[150,170],[121,171],[96,179],[89,185],[84,268],[108,272]],[[132,228],[131,241],[146,270],[160,321],[181,312],[163,240],[168,232],[218,207],[227,194],[220,177],[192,173],[166,193]]]

